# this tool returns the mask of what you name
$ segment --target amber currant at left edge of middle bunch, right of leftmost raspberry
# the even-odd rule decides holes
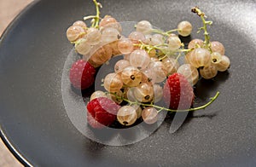
[[[117,92],[123,87],[123,82],[119,74],[109,73],[104,78],[104,88],[109,92]]]

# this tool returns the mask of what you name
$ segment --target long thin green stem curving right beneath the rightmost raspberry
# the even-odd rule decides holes
[[[216,95],[214,95],[212,98],[210,98],[211,101],[207,102],[207,104],[205,104],[201,107],[189,108],[189,109],[185,109],[185,110],[173,110],[173,109],[166,108],[166,107],[159,107],[159,106],[156,106],[156,105],[153,105],[153,104],[145,104],[145,103],[138,102],[138,101],[129,101],[128,99],[120,97],[120,96],[116,95],[115,93],[108,92],[108,94],[115,95],[115,97],[117,99],[128,102],[129,104],[137,104],[138,106],[142,106],[142,107],[154,107],[154,108],[160,109],[159,112],[163,111],[163,110],[165,110],[167,112],[194,112],[196,110],[205,109],[206,107],[210,106],[212,104],[212,102],[215,101],[218,98],[219,92],[217,92]]]

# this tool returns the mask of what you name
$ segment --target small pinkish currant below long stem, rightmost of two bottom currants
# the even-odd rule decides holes
[[[146,124],[154,124],[158,120],[158,112],[154,107],[146,107],[143,109],[142,118]]]

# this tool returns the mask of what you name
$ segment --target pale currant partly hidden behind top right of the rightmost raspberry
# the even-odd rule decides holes
[[[191,66],[190,64],[183,64],[182,66],[179,66],[177,73],[183,74],[183,76],[188,79],[191,85],[195,85],[199,78],[199,72],[195,66]]]

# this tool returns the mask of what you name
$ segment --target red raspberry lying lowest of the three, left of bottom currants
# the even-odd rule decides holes
[[[87,104],[87,121],[91,127],[102,129],[116,120],[119,105],[107,97],[99,97]]]

